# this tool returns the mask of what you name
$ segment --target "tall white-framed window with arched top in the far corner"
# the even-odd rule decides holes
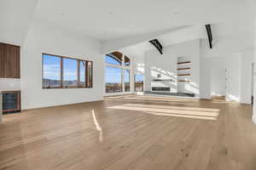
[[[131,61],[124,54],[113,52],[105,55],[105,92],[130,92]]]

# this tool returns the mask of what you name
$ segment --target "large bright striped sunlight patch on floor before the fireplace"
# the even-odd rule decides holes
[[[177,116],[207,120],[217,120],[219,109],[199,108],[199,107],[179,107],[168,105],[137,105],[125,104],[114,105],[108,109],[127,110],[127,111],[143,111],[156,116]]]

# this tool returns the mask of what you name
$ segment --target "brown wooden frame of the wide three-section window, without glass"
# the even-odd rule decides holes
[[[49,56],[53,56],[53,57],[59,57],[61,59],[61,84],[60,87],[55,87],[55,88],[44,88],[44,55],[49,55]],[[70,87],[64,87],[63,86],[63,59],[75,59],[77,61],[77,85],[76,86],[70,86]],[[85,87],[80,86],[80,61],[85,61],[85,77],[84,77],[84,81],[85,81]],[[91,63],[91,86],[88,85],[88,62]],[[89,78],[89,77],[88,77]],[[42,88],[43,89],[58,89],[58,88],[93,88],[93,61],[90,60],[86,60],[86,59],[77,59],[77,58],[73,58],[73,57],[67,57],[67,56],[62,56],[62,55],[55,55],[55,54],[46,54],[43,53],[42,54]]]

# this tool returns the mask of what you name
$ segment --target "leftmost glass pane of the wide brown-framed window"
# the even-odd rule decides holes
[[[61,87],[61,58],[43,54],[43,88]]]

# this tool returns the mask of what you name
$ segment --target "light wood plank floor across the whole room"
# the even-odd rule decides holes
[[[3,116],[0,169],[255,170],[252,106],[115,96]]]

